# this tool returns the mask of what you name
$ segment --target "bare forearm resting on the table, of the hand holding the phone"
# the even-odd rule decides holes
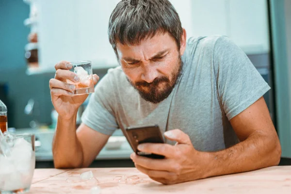
[[[243,142],[222,151],[208,153],[207,177],[233,174],[278,165],[281,147],[277,136],[254,133]]]

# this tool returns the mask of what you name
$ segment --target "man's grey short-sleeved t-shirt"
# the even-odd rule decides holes
[[[158,124],[162,131],[181,129],[199,151],[237,144],[229,120],[262,97],[269,85],[225,36],[190,38],[182,61],[177,85],[158,104],[140,97],[120,66],[110,69],[97,83],[82,122],[108,135],[139,125]]]

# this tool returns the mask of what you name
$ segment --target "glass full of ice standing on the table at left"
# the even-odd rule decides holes
[[[1,194],[22,194],[30,190],[35,168],[34,141],[33,134],[10,134],[6,140],[9,155],[0,154]],[[4,149],[3,144],[1,146]]]

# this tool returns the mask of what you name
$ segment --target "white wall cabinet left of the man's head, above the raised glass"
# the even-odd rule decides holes
[[[61,61],[92,61],[93,68],[116,66],[107,37],[111,12],[119,0],[39,0],[41,69],[55,71]]]

